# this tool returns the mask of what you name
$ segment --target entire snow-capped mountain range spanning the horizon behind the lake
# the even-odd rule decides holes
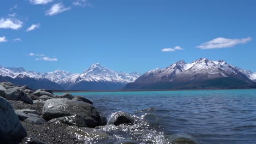
[[[256,88],[256,73],[237,68],[225,61],[200,58],[191,63],[178,61],[164,69],[156,68],[141,75],[114,71],[92,64],[81,74],[64,70],[49,73],[27,71],[0,65],[0,82],[73,91],[110,91],[120,89],[206,89]]]

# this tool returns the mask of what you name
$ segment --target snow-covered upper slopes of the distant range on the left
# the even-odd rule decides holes
[[[49,73],[36,73],[34,71],[27,71],[24,68],[5,68],[0,65],[0,75],[9,76],[13,79],[18,76],[20,78],[22,78],[22,76],[27,76],[36,80],[48,79],[59,85],[63,85],[67,82],[77,83],[79,81],[129,83],[135,81],[140,76],[140,74],[136,72],[126,74],[121,71],[109,70],[102,67],[99,63],[92,64],[91,67],[84,70],[82,74],[73,74],[65,70],[55,70]]]

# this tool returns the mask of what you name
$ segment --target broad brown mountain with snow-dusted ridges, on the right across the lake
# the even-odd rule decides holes
[[[224,61],[200,58],[192,63],[178,61],[165,69],[154,69],[128,83],[124,89],[199,89],[255,87],[255,73]]]

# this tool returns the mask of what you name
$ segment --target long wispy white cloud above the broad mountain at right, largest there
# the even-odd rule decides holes
[[[199,46],[196,46],[202,50],[206,49],[220,49],[225,47],[232,47],[237,44],[245,44],[248,41],[251,41],[252,38],[243,38],[243,39],[227,39],[227,38],[216,38],[211,41],[207,41],[206,43],[203,43]]]

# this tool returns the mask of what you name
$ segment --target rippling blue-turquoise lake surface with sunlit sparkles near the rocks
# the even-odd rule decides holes
[[[201,143],[256,143],[256,89],[72,94],[92,100],[107,118],[124,111],[141,120],[136,125],[102,127],[111,140],[87,142],[165,143],[166,135],[186,133]]]

